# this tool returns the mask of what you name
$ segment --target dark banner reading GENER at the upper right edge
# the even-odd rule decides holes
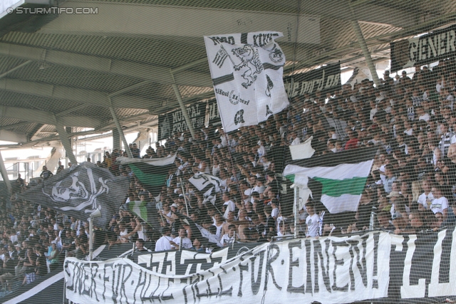
[[[456,25],[391,43],[391,71],[425,65],[456,55]]]

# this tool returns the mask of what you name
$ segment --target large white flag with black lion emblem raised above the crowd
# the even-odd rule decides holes
[[[225,132],[257,125],[289,105],[285,55],[274,31],[204,36]]]

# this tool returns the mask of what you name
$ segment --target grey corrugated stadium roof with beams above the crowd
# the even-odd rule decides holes
[[[173,84],[186,103],[211,98],[204,35],[282,31],[293,73],[363,65],[353,21],[384,61],[391,41],[456,19],[450,0],[9,1],[19,8],[0,19],[0,140],[23,147],[58,140],[56,125],[112,130],[111,106],[123,127],[156,123],[179,106]]]

